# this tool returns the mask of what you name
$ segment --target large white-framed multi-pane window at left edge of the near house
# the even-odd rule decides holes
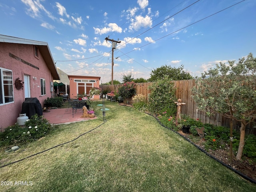
[[[0,104],[14,101],[12,71],[0,68]]]

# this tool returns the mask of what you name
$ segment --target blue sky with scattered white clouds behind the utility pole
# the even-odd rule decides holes
[[[114,80],[130,72],[147,79],[162,65],[200,76],[220,61],[256,56],[256,0],[240,1],[0,0],[0,34],[48,42],[58,68],[103,83],[111,80],[108,36],[121,41]]]

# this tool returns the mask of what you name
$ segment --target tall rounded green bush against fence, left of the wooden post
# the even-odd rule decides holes
[[[175,96],[174,84],[171,79],[164,77],[149,86],[150,94],[148,97],[148,108],[150,112],[158,114],[166,108],[170,108],[173,115],[176,114],[177,106],[174,103]]]

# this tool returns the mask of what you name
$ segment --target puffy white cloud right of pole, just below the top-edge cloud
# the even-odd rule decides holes
[[[131,19],[131,24],[129,26],[129,29],[137,31],[140,28],[143,28],[144,26],[148,26],[149,28],[151,28],[152,20],[148,15],[146,15],[145,17],[139,15],[139,16],[136,16],[135,19]]]

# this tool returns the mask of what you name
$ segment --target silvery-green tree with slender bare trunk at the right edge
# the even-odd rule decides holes
[[[216,68],[202,74],[192,91],[198,108],[208,115],[221,113],[224,117],[241,122],[237,160],[244,149],[246,125],[256,118],[256,58],[220,62]]]

